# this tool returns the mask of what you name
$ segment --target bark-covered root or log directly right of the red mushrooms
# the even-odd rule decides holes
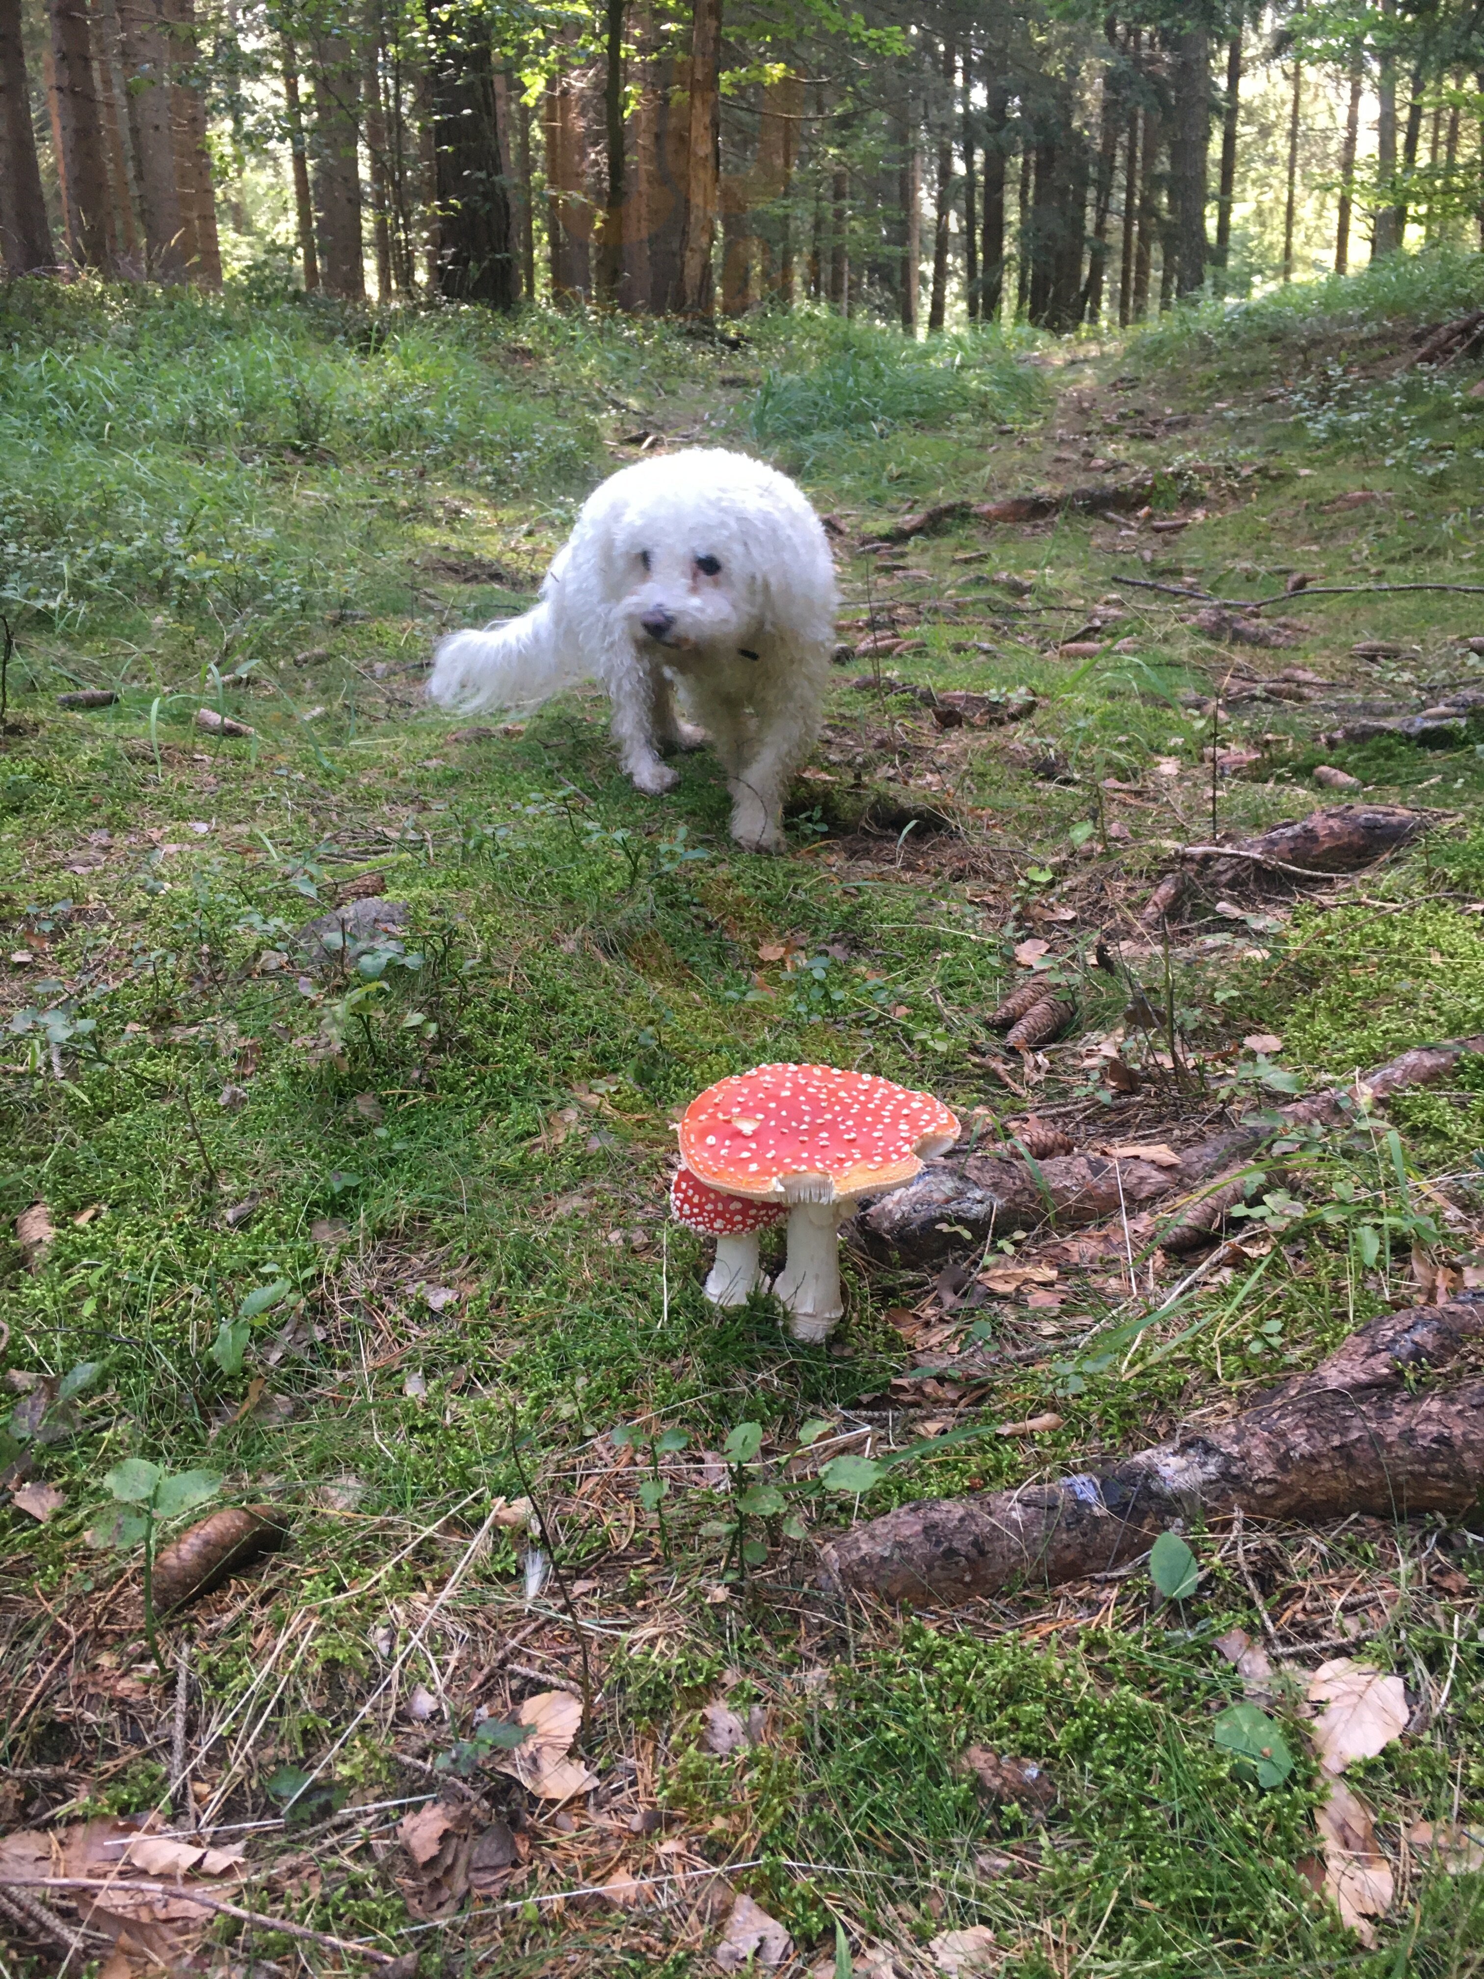
[[[1245,1116],[1185,1148],[1177,1168],[1112,1154],[1063,1154],[1035,1166],[985,1154],[928,1162],[906,1187],[882,1195],[861,1217],[859,1231],[875,1257],[932,1265],[962,1245],[983,1247],[995,1233],[1035,1231],[1047,1223],[1061,1231],[1078,1229],[1175,1197],[1169,1231],[1156,1227],[1156,1243],[1175,1251],[1195,1249],[1243,1193],[1233,1189],[1225,1203],[1215,1203],[1207,1191],[1225,1193],[1235,1172],[1251,1176],[1243,1164],[1266,1142],[1296,1126],[1334,1126],[1353,1116],[1361,1100],[1437,1084],[1472,1053],[1484,1053],[1484,1035],[1405,1051],[1349,1086],[1330,1086],[1306,1100]],[[1195,1189],[1199,1197],[1189,1203]],[[1209,1223],[1199,1225],[1193,1215],[1203,1209],[1209,1209]],[[1175,1235],[1181,1225],[1185,1237]]]

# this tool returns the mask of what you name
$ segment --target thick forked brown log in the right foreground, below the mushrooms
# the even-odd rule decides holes
[[[1387,1312],[1231,1421],[1096,1472],[930,1498],[823,1548],[825,1585],[962,1601],[1142,1554],[1175,1520],[1466,1512],[1484,1482],[1484,1381],[1409,1393],[1484,1334],[1484,1300]]]

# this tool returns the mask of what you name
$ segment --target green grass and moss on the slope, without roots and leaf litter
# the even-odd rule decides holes
[[[1005,1106],[983,1017],[1015,974],[1013,942],[1045,930],[1076,958],[1098,928],[1130,936],[1159,841],[1197,835],[1209,815],[1209,732],[1179,697],[1221,679],[1231,655],[1181,623],[1173,600],[1120,580],[1245,596],[1280,588],[1294,566],[1330,582],[1480,582],[1476,372],[1379,376],[1415,321],[1437,321],[1478,283],[1476,263],[1413,271],[1391,293],[1361,281],[1296,295],[1108,358],[1027,362],[964,340],[952,364],[906,368],[884,338],[811,323],[712,352],[663,330],[550,319],[404,329],[295,309],[12,303],[0,536],[16,546],[4,584],[18,657],[0,885],[6,948],[32,960],[0,978],[16,1033],[0,1073],[4,1209],[44,1197],[59,1235],[36,1274],[10,1253],[8,1362],[103,1367],[79,1433],[40,1457],[65,1506],[46,1528],[8,1514],[12,1666],[44,1666],[63,1641],[24,1591],[32,1577],[75,1619],[113,1587],[115,1557],[83,1534],[121,1457],[210,1464],[233,1498],[279,1496],[297,1518],[291,1557],[214,1595],[204,1613],[222,1627],[194,1650],[202,1710],[216,1712],[245,1696],[279,1629],[303,1631],[297,1662],[273,1650],[275,1678],[289,1676],[271,1712],[202,1767],[232,1819],[253,1819],[271,1807],[277,1767],[340,1736],[378,1680],[378,1631],[406,1641],[481,1502],[534,1484],[594,1625],[592,1761],[619,1815],[659,1799],[671,1819],[647,1838],[582,1811],[574,1833],[534,1825],[522,1898],[615,1862],[764,1858],[740,1880],[823,1947],[833,1916],[898,1945],[983,1920],[1025,1973],[1175,1975],[1195,1957],[1219,1971],[1355,1969],[1353,1939],[1294,1870],[1312,1850],[1306,1761],[1290,1787],[1258,1795],[1211,1743],[1209,1712],[1235,1678],[1209,1639],[1231,1619],[1252,1625],[1215,1542],[1203,1548],[1211,1577],[1179,1617],[1150,1605],[1136,1577],[1051,1605],[853,1621],[809,1593],[809,1548],[778,1518],[752,1522],[764,1554],[746,1585],[728,1581],[734,1514],[696,1453],[756,1421],[774,1478],[807,1421],[881,1427],[851,1411],[884,1403],[910,1362],[886,1314],[928,1288],[855,1265],[851,1316],[827,1352],[789,1346],[766,1300],[718,1320],[700,1298],[696,1243],[665,1229],[667,1120],[704,1083],[766,1057],[861,1063],[966,1110]],[[46,321],[51,309],[65,321]],[[799,786],[795,853],[762,861],[728,845],[710,758],[689,760],[661,807],[639,800],[615,776],[592,697],[471,740],[423,712],[429,635],[518,604],[574,499],[633,455],[625,437],[639,429],[764,445],[821,509],[851,511],[849,617],[896,612],[914,629],[914,602],[956,592],[952,619],[928,623],[890,667],[940,689],[1029,685],[1041,708],[1011,736],[1055,746],[1080,780],[1035,780],[1005,730],[940,736],[902,703],[841,685],[819,774]],[[1173,540],[1086,518],[993,536],[964,526],[890,558],[900,574],[857,548],[902,507],[1076,479],[1092,453],[1159,469],[1161,505],[1189,487],[1187,513],[1199,501],[1207,518]],[[1332,507],[1361,487],[1385,499]],[[954,562],[970,550],[989,554]],[[981,576],[1001,568],[1045,610],[997,612],[1005,592]],[[451,582],[457,570],[485,582]],[[1132,651],[1055,657],[1110,590]],[[1450,643],[1484,633],[1478,606],[1314,600],[1296,608],[1312,631],[1282,663],[1363,673],[1405,699],[1484,665]],[[1351,661],[1363,637],[1417,657]],[[57,691],[99,683],[121,687],[113,708],[55,708]],[[255,738],[206,738],[192,726],[200,705]],[[1282,1065],[1308,1081],[1484,1027],[1484,944],[1468,912],[1484,889],[1484,841],[1470,835],[1484,760],[1472,744],[1326,752],[1316,726],[1314,710],[1286,703],[1235,710],[1223,742],[1266,736],[1268,774],[1221,786],[1223,829],[1308,807],[1322,756],[1379,798],[1431,801],[1456,823],[1371,877],[1359,906],[1213,920],[1171,958],[1179,1021],[1215,1055],[1207,1077],[1235,1071],[1251,1090],[1260,1067],[1239,1041],[1256,1029],[1280,1031]],[[1171,760],[1175,776],[1154,774]],[[1106,778],[1138,790],[1102,792]],[[888,821],[875,837],[853,829],[867,798]],[[944,805],[952,837],[932,829]],[[1084,845],[1078,823],[1094,827]],[[299,980],[295,964],[263,964],[370,875],[408,904],[419,966],[394,958],[368,988],[340,968]],[[1423,893],[1425,910],[1391,912]],[[1061,908],[1076,918],[1045,918]],[[1128,966],[1163,1005],[1163,956]],[[1070,968],[1078,1037],[1106,1033],[1126,988]],[[1096,1114],[1082,1057],[1076,1043],[1051,1053],[1037,1096],[1080,1092]],[[1130,1122],[1171,1112],[1154,1077],[1156,1102]],[[220,1104],[228,1086],[241,1104]],[[1397,1118],[1415,1174],[1466,1174],[1484,1118],[1472,1094],[1419,1098]],[[1047,1358],[1005,1364],[954,1421],[1055,1405],[1065,1427],[1037,1447],[928,1453],[869,1506],[1078,1466],[1254,1385],[1276,1356],[1312,1360],[1401,1284],[1409,1225],[1391,1231],[1385,1278],[1365,1269],[1365,1239],[1347,1241],[1355,1223],[1413,1213],[1389,1162],[1369,1142],[1328,1154],[1308,1193],[1340,1203],[1340,1221],[1290,1231],[1251,1292],[1243,1278],[1203,1290],[1126,1360],[1057,1358],[1061,1338],[1116,1304],[1116,1286],[1078,1286],[1059,1314],[983,1308],[975,1318],[999,1344],[1041,1344]],[[1446,1247],[1466,1253],[1466,1181],[1454,1199],[1466,1217]],[[1419,1211],[1429,1201],[1411,1193]],[[243,1203],[249,1213],[228,1215]],[[224,1373],[210,1350],[255,1286],[279,1290],[245,1328],[239,1371]],[[429,1286],[459,1296],[429,1300]],[[1159,1344],[1171,1350],[1148,1352]],[[952,1387],[904,1393],[900,1443],[954,1415]],[[691,1439],[671,1461],[663,1530],[635,1498],[643,1466],[625,1470],[605,1441],[619,1423]],[[829,1524],[851,1502],[805,1492],[799,1510]],[[1355,1583],[1375,1597],[1363,1613],[1385,1625],[1375,1652],[1387,1666],[1413,1686],[1452,1670],[1448,1710],[1359,1769],[1389,1823],[1480,1813],[1484,1795],[1474,1607],[1429,1587],[1419,1555],[1433,1540],[1361,1522],[1252,1548],[1276,1613],[1320,1577],[1336,1597]],[[516,1656],[576,1676],[562,1605],[550,1613],[542,1625],[536,1611]],[[507,1625],[530,1621],[510,1536],[445,1621],[435,1664],[414,1654],[400,1694],[445,1686],[453,1724],[382,1718],[384,1698],[334,1761],[364,1799],[417,1789],[394,1743],[433,1753],[467,1734],[475,1702],[503,1710],[538,1688],[487,1668]],[[1308,1627],[1324,1635],[1326,1617]],[[127,1641],[107,1627],[85,1637],[75,1678],[119,1668]],[[135,1660],[123,1654],[125,1668]],[[821,1690],[811,1672],[823,1668]],[[768,1706],[758,1749],[702,1749],[696,1712],[722,1688],[744,1716]],[[8,1761],[71,1765],[67,1710],[49,1696],[10,1736]],[[135,1692],[99,1710],[103,1763],[61,1775],[36,1811],[67,1797],[156,1801],[160,1753],[146,1743],[131,1757],[127,1720],[154,1736],[162,1686],[135,1668]],[[952,1763],[966,1742],[1053,1769],[1063,1803],[1045,1831],[975,1803]],[[625,1757],[631,1775],[615,1771]],[[10,1819],[22,1805],[12,1799]],[[655,1852],[677,1837],[689,1852]],[[979,1858],[999,1846],[1013,1872],[985,1880]],[[265,1904],[334,1932],[396,1935],[404,1918],[364,1856],[326,1866],[319,1892],[271,1886]],[[1373,1969],[1401,1969],[1403,1941],[1407,1969],[1474,1969],[1478,1924],[1466,1880],[1413,1880]],[[687,1949],[704,1937],[687,1904],[659,1920],[509,1910],[501,1932],[487,1961],[499,1973],[560,1969],[558,1945],[586,1971],[706,1969]],[[487,1922],[433,1933],[449,1953],[493,1937]]]

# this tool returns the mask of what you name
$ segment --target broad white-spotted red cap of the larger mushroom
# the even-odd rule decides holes
[[[956,1140],[958,1118],[930,1092],[833,1065],[758,1065],[706,1086],[681,1120],[691,1174],[758,1203],[894,1189]]]

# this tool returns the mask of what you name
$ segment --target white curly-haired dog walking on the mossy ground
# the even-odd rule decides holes
[[[635,790],[671,790],[661,754],[710,738],[732,837],[772,853],[819,732],[835,606],[825,530],[789,479],[720,447],[659,455],[588,497],[534,610],[439,641],[427,693],[509,708],[596,677]]]

